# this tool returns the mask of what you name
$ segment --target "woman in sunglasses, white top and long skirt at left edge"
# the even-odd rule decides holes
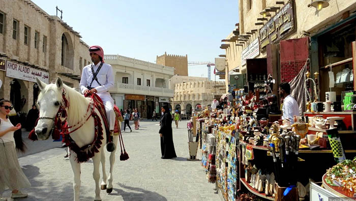
[[[21,124],[14,126],[9,120],[8,114],[13,109],[11,102],[2,99],[0,101],[0,193],[7,188],[12,189],[11,198],[27,197],[19,189],[31,186],[21,170],[15,150],[14,131],[21,129]],[[0,200],[7,200],[1,198]]]

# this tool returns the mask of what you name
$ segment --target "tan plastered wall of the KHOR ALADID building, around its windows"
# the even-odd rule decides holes
[[[82,62],[90,61],[88,45],[80,40],[81,36],[64,21],[56,16],[48,15],[32,1],[26,0],[0,0],[0,13],[5,15],[3,33],[0,33],[0,58],[15,63],[26,63],[32,68],[49,73],[49,82],[57,76],[72,87],[78,87],[79,81],[59,73],[69,73],[80,77],[80,57]],[[17,21],[16,39],[13,39],[13,21]],[[27,43],[25,43],[25,26],[28,28]],[[35,47],[35,35],[37,44]],[[62,36],[68,41],[68,53],[65,66],[62,65]],[[104,48],[105,50],[105,48]],[[87,63],[86,63],[87,64]],[[82,66],[85,66],[82,63]],[[6,77],[5,71],[0,71],[3,87],[0,97],[10,99],[10,83],[14,78]],[[22,111],[27,112],[32,107],[34,99],[34,82],[17,79],[25,95],[26,105]]]

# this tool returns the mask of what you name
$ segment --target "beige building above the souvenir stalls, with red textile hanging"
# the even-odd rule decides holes
[[[240,73],[247,74],[247,80],[261,80],[262,76],[253,75],[257,74],[257,69],[249,67],[256,64],[263,74],[272,74],[277,84],[288,82],[308,60],[309,71],[319,73],[322,83],[320,99],[325,101],[325,91],[329,91],[326,86],[330,68],[319,68],[344,61],[333,65],[335,76],[344,69],[352,69],[352,59],[349,58],[352,57],[352,42],[355,41],[356,2],[322,2],[324,6],[320,5],[318,10],[310,5],[311,0],[239,1],[240,22],[222,40],[220,47],[225,50],[225,55],[221,56],[226,57],[226,85],[229,84],[229,73],[236,68]],[[332,90],[341,95],[345,85]]]

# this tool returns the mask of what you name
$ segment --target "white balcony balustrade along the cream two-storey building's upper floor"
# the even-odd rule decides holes
[[[113,91],[118,91],[120,92],[120,89],[127,89],[131,90],[130,93],[140,93],[140,94],[147,94],[150,95],[150,92],[153,93],[159,93],[161,95],[163,94],[171,94],[173,96],[173,90],[172,89],[166,89],[166,88],[159,88],[159,87],[149,87],[149,86],[141,86],[141,85],[133,85],[133,84],[125,84],[125,83],[116,83],[116,90]]]

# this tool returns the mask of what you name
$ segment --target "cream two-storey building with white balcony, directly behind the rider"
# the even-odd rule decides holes
[[[153,110],[160,111],[173,97],[172,67],[121,55],[104,55],[104,59],[113,68],[115,87],[110,94],[118,108],[137,108],[142,118],[151,118]]]

